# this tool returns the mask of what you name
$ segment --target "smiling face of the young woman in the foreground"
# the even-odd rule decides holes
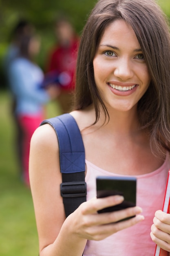
[[[134,30],[115,20],[104,31],[93,60],[96,86],[107,108],[137,107],[150,84],[150,75]]]

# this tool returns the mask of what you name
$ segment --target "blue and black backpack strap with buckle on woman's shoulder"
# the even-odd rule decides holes
[[[50,124],[57,135],[60,148],[60,185],[66,217],[86,201],[85,151],[82,135],[70,114],[44,120],[40,125]]]

